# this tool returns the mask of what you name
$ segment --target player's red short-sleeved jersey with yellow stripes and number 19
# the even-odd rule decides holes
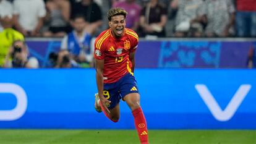
[[[117,39],[111,29],[102,32],[95,40],[95,59],[105,59],[104,83],[117,82],[128,72],[132,73],[129,54],[137,49],[139,36],[133,30],[125,28],[124,36]]]

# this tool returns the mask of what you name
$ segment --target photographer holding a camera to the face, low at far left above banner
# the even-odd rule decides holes
[[[14,68],[38,68],[38,60],[35,57],[29,57],[27,44],[24,41],[14,41],[9,53],[6,56],[5,67]]]

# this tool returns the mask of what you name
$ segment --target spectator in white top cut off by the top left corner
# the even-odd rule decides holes
[[[12,17],[13,6],[12,3],[6,0],[0,0],[0,17]],[[0,22],[0,32],[3,30],[3,27]]]

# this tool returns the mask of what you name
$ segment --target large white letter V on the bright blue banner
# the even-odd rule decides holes
[[[229,121],[229,119],[234,116],[234,113],[239,108],[240,104],[244,100],[251,87],[251,85],[247,84],[241,85],[234,94],[231,101],[229,101],[228,106],[226,106],[224,111],[222,111],[219,104],[216,102],[213,95],[211,95],[206,85],[195,85],[195,89],[197,89],[199,95],[210,109],[211,114],[213,114],[215,119],[217,119],[218,121]]]

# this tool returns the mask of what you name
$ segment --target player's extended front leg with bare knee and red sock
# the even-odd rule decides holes
[[[126,101],[129,108],[132,110],[135,127],[140,138],[140,143],[148,144],[147,122],[143,114],[142,108],[140,108],[139,93],[129,93],[128,95],[124,96],[124,101]]]

